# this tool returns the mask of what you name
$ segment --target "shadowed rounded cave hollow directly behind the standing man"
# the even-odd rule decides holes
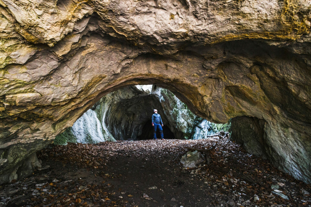
[[[155,90],[156,86],[153,87]],[[173,127],[172,123],[168,121],[160,100],[154,94],[140,94],[137,97],[121,100],[118,104],[108,108],[104,122],[116,140],[152,139],[151,115],[154,108],[162,114],[163,133],[172,139],[175,137],[170,130]],[[175,131],[177,135],[177,130]],[[157,136],[160,137],[158,131]]]

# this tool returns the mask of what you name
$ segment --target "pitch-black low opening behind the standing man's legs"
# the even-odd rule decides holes
[[[174,133],[169,129],[168,126],[163,125],[163,136],[164,139],[175,139]],[[161,138],[159,130],[156,132],[156,137]],[[153,127],[151,125],[151,119],[147,120],[142,127],[142,134],[137,136],[137,140],[149,140],[153,139]]]

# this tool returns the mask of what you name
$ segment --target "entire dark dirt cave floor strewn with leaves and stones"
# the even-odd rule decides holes
[[[209,165],[183,168],[186,147],[214,144]],[[311,206],[310,185],[227,138],[68,144],[38,157],[46,169],[0,186],[0,206]]]

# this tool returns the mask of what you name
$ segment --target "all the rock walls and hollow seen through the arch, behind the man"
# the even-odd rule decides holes
[[[162,117],[167,139],[202,139],[218,131],[214,123],[196,117],[169,90],[156,85],[136,85],[102,97],[72,127],[56,137],[56,144],[66,144],[66,140],[98,143],[152,139],[151,115],[154,108]],[[65,141],[61,141],[63,138]]]

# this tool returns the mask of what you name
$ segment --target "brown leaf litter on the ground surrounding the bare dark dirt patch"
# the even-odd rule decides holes
[[[189,148],[207,150],[210,146],[216,147],[209,151],[212,160],[209,165],[202,163],[187,169],[179,163]],[[241,145],[227,138],[68,144],[41,150],[38,157],[51,167],[0,186],[0,206],[136,206],[131,200],[133,195],[110,183],[122,176],[107,173],[111,160],[118,157],[137,162],[159,158],[159,163],[168,164],[171,172],[202,182],[205,195],[211,200],[207,206],[311,206],[309,185],[280,172],[266,160],[247,154]],[[55,171],[72,174],[53,177]],[[90,174],[93,177],[89,179],[93,180],[85,182]],[[147,196],[144,194],[142,199],[151,200]]]

